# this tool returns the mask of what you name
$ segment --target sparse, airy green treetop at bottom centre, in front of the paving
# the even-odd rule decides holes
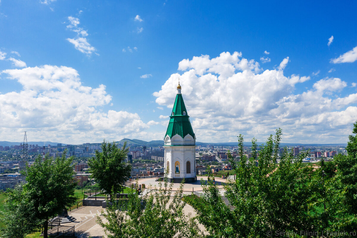
[[[166,177],[158,188],[151,189],[142,197],[130,193],[128,199],[119,199],[105,212],[102,211],[107,222],[98,217],[97,223],[104,228],[108,238],[200,237],[195,218],[188,218],[183,213],[183,183],[173,198],[172,185],[168,186]]]

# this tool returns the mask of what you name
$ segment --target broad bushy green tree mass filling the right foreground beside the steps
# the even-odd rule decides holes
[[[259,155],[253,139],[251,158],[244,155],[243,136],[239,136],[240,161],[229,155],[236,180],[224,186],[225,196],[234,208],[231,211],[224,204],[212,182],[203,188],[205,206],[194,204],[209,237],[286,237],[275,232],[321,234],[326,228],[346,227],[348,221],[343,216],[345,209],[335,186],[336,178],[327,179],[322,169],[314,172],[312,167],[303,166],[302,159],[308,152],[294,157],[285,148],[279,157],[281,135],[281,129],[274,138],[271,135]]]

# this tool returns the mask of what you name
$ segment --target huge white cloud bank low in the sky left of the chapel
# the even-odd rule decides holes
[[[44,65],[2,74],[22,89],[0,93],[0,140],[9,140],[9,135],[14,139],[19,135],[19,140],[19,132],[29,131],[32,140],[113,141],[139,138],[149,128],[137,113],[102,110],[111,101],[105,85],[82,85],[78,72],[70,67]]]

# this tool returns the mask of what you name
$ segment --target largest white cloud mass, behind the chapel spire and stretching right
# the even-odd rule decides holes
[[[180,78],[197,141],[236,141],[239,133],[246,140],[255,136],[265,141],[281,127],[284,142],[346,142],[356,120],[357,93],[340,96],[345,81],[326,78],[295,93],[297,83],[311,79],[285,76],[288,57],[278,69],[263,72],[239,67],[242,60],[237,52],[223,52],[212,59],[206,55],[184,59],[178,69],[185,72],[172,74],[153,93],[156,103],[172,108]]]

